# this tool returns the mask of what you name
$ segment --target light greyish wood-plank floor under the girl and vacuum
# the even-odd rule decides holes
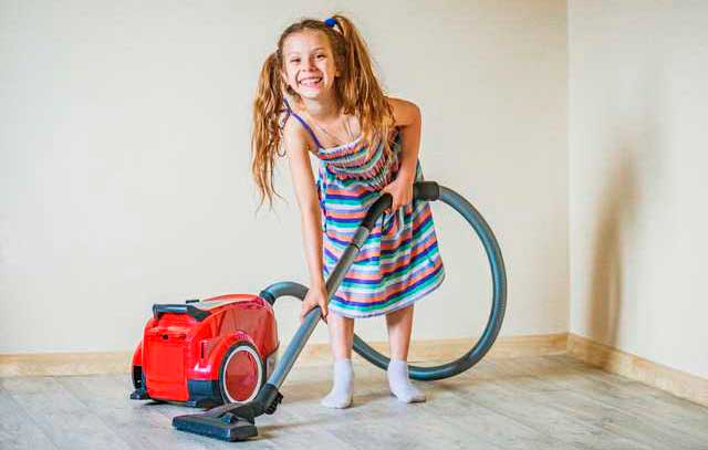
[[[295,366],[249,442],[176,431],[194,409],[131,401],[127,376],[0,379],[0,449],[708,449],[708,408],[568,356],[485,360],[403,405],[355,365],[354,406],[319,399],[330,367]]]

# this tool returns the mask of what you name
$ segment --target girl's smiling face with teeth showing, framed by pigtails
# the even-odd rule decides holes
[[[304,30],[283,42],[284,72],[288,85],[303,98],[329,96],[337,77],[330,40],[321,31]]]

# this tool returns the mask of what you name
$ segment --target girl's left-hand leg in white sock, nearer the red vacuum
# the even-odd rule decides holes
[[[334,383],[332,390],[321,401],[327,408],[347,408],[352,405],[354,370],[352,346],[354,345],[354,320],[330,312],[327,315],[330,345],[334,355]]]

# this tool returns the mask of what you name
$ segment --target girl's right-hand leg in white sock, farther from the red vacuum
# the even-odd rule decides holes
[[[388,326],[388,387],[393,395],[405,402],[425,401],[425,394],[408,379],[408,347],[413,328],[413,305],[386,314]]]

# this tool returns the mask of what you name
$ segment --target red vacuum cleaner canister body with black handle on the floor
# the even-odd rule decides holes
[[[228,294],[156,304],[133,355],[132,399],[195,407],[252,400],[278,360],[270,303]]]

